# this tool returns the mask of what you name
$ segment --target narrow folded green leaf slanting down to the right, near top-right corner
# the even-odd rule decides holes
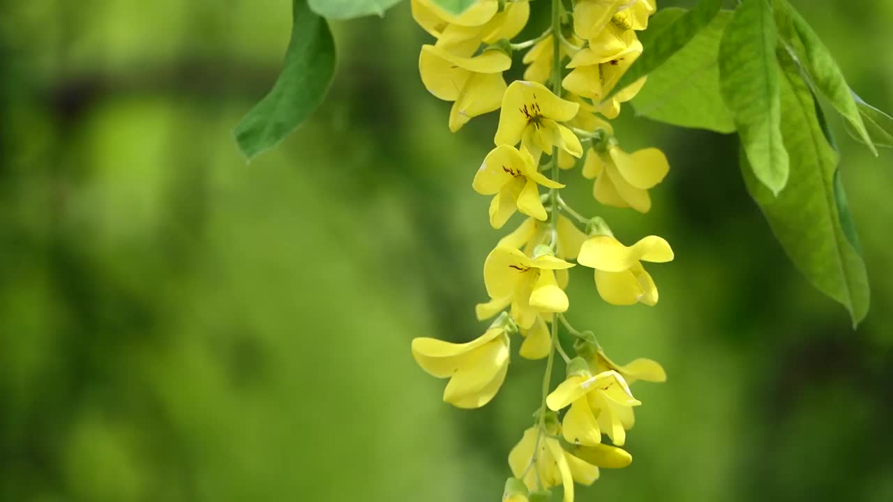
[[[780,37],[797,54],[797,59],[804,65],[814,88],[828,99],[830,104],[843,115],[849,126],[855,130],[860,140],[867,145],[874,155],[877,148],[872,143],[871,135],[865,128],[862,115],[855,104],[847,79],[840,71],[822,38],[815,33],[809,23],[787,0],[774,0],[775,22]]]

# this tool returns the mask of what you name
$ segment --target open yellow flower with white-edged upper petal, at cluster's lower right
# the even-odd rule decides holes
[[[578,359],[580,360],[580,359]],[[613,370],[592,376],[588,371],[573,372],[546,398],[550,410],[566,406],[562,433],[576,445],[595,447],[601,443],[602,431],[617,446],[626,441],[626,431],[635,422],[633,406],[642,403],[632,397],[630,386]]]

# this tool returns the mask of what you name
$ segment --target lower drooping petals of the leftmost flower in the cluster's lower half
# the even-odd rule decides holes
[[[469,352],[447,383],[444,401],[466,408],[487,404],[499,387],[493,389],[490,384],[508,365],[508,356],[508,346],[503,339],[494,339]]]

